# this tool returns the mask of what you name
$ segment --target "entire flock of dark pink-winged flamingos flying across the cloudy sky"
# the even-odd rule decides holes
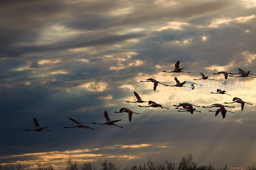
[[[173,71],[163,71],[163,72],[168,72],[168,73],[172,73],[172,72],[174,72],[174,73],[182,73],[182,72],[185,72],[185,71],[181,71],[183,68],[180,68],[179,67],[179,63],[180,63],[180,61],[178,61],[177,63],[175,63],[175,70],[173,70]],[[185,72],[185,73],[190,73],[190,72]],[[256,76],[256,75],[253,75],[253,74],[250,74],[250,71],[244,71],[244,70],[241,70],[241,69],[238,69],[238,73],[227,73],[227,72],[225,72],[225,71],[220,71],[220,72],[218,72],[218,73],[213,73],[213,74],[224,74],[224,76],[225,76],[225,79],[227,79],[228,77],[252,77],[252,78],[256,78],[256,77],[254,77],[254,76]],[[206,80],[206,79],[210,79],[209,78],[209,76],[205,76],[203,73],[200,73],[201,75],[202,75],[202,78],[201,79],[203,79],[203,80]],[[240,74],[240,76],[230,76],[230,75],[234,75],[234,74]],[[252,75],[252,76],[251,76]],[[194,80],[201,80],[201,79],[194,79]],[[157,80],[155,80],[155,79],[153,79],[153,78],[148,78],[147,79],[147,81],[140,81],[140,82],[153,82],[154,83],[154,91],[156,90],[156,87],[157,87],[157,85],[158,85],[158,83],[159,84],[162,84],[162,85],[164,85],[164,86],[176,86],[176,87],[187,87],[187,86],[184,86],[185,84],[190,84],[191,85],[191,89],[194,89],[195,88],[195,85],[194,84],[196,84],[196,83],[194,83],[194,82],[192,82],[192,81],[184,81],[184,82],[182,82],[182,83],[180,83],[180,81],[175,77],[174,78],[174,80],[176,81],[176,85],[165,85],[165,84],[162,84],[162,83],[160,83],[159,81],[157,81]],[[210,80],[213,80],[213,79],[210,79]],[[225,90],[220,90],[220,89],[217,89],[217,92],[216,92],[216,94],[227,94],[227,92],[225,93],[226,91]],[[214,93],[214,92],[211,92],[211,93]],[[136,93],[136,92],[134,92],[134,95],[135,95],[135,97],[137,98],[137,101],[126,101],[126,103],[144,103],[144,102],[148,102],[148,105],[149,106],[138,106],[138,107],[161,107],[162,109],[163,109],[163,111],[164,111],[164,108],[165,109],[169,109],[169,108],[166,108],[166,107],[163,107],[162,105],[160,105],[160,104],[157,104],[156,102],[154,102],[154,101],[143,101],[143,100],[141,100],[141,98],[140,98],[140,96]],[[229,94],[227,94],[227,95],[229,95]],[[243,109],[244,109],[244,104],[245,103],[247,103],[247,102],[245,102],[245,101],[243,101],[242,99],[239,99],[239,98],[237,98],[237,97],[234,97],[234,99],[233,99],[233,102],[230,102],[230,103],[241,103],[241,106],[242,106],[242,111],[243,111]],[[227,102],[225,102],[224,104],[228,104]],[[252,103],[247,103],[247,104],[249,104],[249,105],[253,105]],[[175,107],[175,109],[181,109],[181,110],[183,110],[183,111],[181,111],[181,110],[178,110],[178,112],[190,112],[191,114],[193,114],[193,112],[201,112],[201,111],[197,111],[196,110],[196,108],[193,108],[193,106],[195,106],[195,105],[192,105],[192,104],[190,104],[190,103],[180,103],[179,105],[173,105],[174,107]],[[179,108],[179,107],[182,107],[182,108]],[[195,107],[200,107],[200,106],[195,106]],[[225,116],[226,116],[226,113],[227,112],[230,112],[230,111],[228,111],[228,110],[226,110],[224,107],[230,107],[230,108],[235,108],[234,106],[226,106],[226,105],[222,105],[222,104],[212,104],[212,105],[210,105],[210,106],[202,106],[202,107],[204,107],[204,108],[206,108],[206,107],[220,107],[219,109],[217,109],[217,110],[209,110],[209,112],[216,112],[216,114],[215,114],[215,116],[217,116],[219,113],[221,113],[221,115],[222,115],[222,117],[223,117],[223,119],[225,118]],[[126,113],[128,113],[128,116],[129,116],[129,121],[131,122],[131,120],[132,120],[132,114],[134,113],[134,114],[140,114],[140,113],[135,113],[135,112],[133,112],[133,111],[131,111],[130,109],[128,109],[128,108],[121,108],[120,109],[120,111],[119,112],[114,112],[114,113],[124,113],[124,112],[126,112]],[[234,113],[234,112],[231,112],[231,113]],[[115,120],[115,121],[110,121],[110,119],[109,119],[109,117],[108,117],[108,113],[107,113],[107,111],[105,110],[105,112],[104,112],[104,117],[106,118],[106,122],[105,123],[95,123],[95,122],[92,122],[93,124],[100,124],[100,125],[104,125],[104,124],[106,124],[106,125],[115,125],[115,126],[117,126],[116,124],[115,124],[115,122],[118,122],[118,121],[121,121],[122,119],[120,119],[120,120]],[[83,125],[82,123],[80,123],[80,122],[77,122],[76,120],[74,120],[74,119],[72,119],[72,118],[69,118],[72,122],[74,122],[74,123],[76,123],[77,125],[76,126],[74,126],[74,127],[67,127],[67,126],[65,126],[64,128],[86,128],[86,129],[92,129],[92,128],[89,128],[88,126],[85,126],[85,125]],[[28,129],[26,129],[26,131],[43,131],[44,129],[46,129],[46,128],[48,128],[48,126],[47,127],[45,127],[45,128],[40,128],[40,126],[39,126],[39,124],[37,123],[37,121],[36,121],[36,118],[34,117],[34,124],[36,125],[36,129],[33,129],[33,130],[28,130]],[[118,127],[120,127],[120,128],[123,128],[122,126],[118,126]],[[95,129],[93,129],[93,130],[95,130]],[[47,131],[51,131],[51,130],[47,130]]]

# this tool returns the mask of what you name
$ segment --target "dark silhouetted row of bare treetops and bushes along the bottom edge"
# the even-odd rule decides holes
[[[0,164],[0,170],[23,170],[20,167],[21,164],[16,166],[2,166]],[[244,167],[245,170],[256,170],[256,164],[251,164],[247,167]],[[36,168],[26,168],[26,170],[56,170],[56,168],[52,165],[38,165]],[[65,170],[97,170],[95,166],[92,165],[92,162],[83,162],[77,163],[76,161],[72,161],[72,159],[68,159],[66,162]],[[172,161],[164,160],[164,161],[152,161],[150,157],[148,157],[147,162],[143,165],[137,166],[136,164],[131,167],[121,166],[117,167],[113,162],[108,159],[104,159],[101,162],[100,170],[229,170],[228,166],[225,165],[220,168],[215,168],[212,166],[212,163],[208,163],[207,165],[198,165],[193,160],[192,154],[188,154],[181,158],[179,163],[175,163]],[[236,166],[233,166],[231,170],[239,170]]]

